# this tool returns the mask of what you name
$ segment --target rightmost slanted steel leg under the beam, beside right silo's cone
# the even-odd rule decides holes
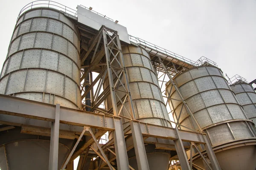
[[[207,135],[204,135],[204,140],[205,140],[204,147],[205,147],[205,149],[207,151],[207,155],[208,155],[208,157],[211,161],[212,169],[213,170],[221,170],[221,167],[218,163],[218,160],[215,156],[215,153],[212,150],[212,144],[211,144],[210,139],[208,138]]]

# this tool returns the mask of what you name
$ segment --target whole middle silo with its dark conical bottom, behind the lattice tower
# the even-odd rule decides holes
[[[148,52],[143,48],[129,45],[122,46],[122,53],[125,60],[136,119],[145,123],[171,127],[169,115],[163,102],[163,96],[160,92],[157,76]],[[122,79],[122,83],[125,84],[124,79]],[[118,90],[124,91],[124,87],[119,85]],[[122,93],[120,92],[118,94],[122,98]],[[128,111],[123,108],[120,115],[131,118],[128,101],[124,105]],[[110,97],[106,100],[106,107],[111,108]],[[118,105],[118,109],[120,107]],[[129,125],[128,119],[122,119],[122,122],[124,122],[123,127]],[[110,138],[111,136],[110,133]],[[145,150],[151,170],[168,169],[170,159],[169,151],[155,149],[154,144],[147,144]],[[134,149],[128,151],[128,159],[131,167],[137,170]]]

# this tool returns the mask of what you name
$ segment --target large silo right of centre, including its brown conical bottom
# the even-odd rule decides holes
[[[223,170],[255,170],[256,142],[252,123],[231,91],[222,72],[214,66],[200,66],[175,76],[174,81],[201,128],[208,134]],[[181,129],[192,129],[191,118],[172,84],[167,85],[169,105]],[[181,113],[180,113],[181,111]],[[197,130],[197,129],[196,129]],[[190,154],[187,154],[190,157]],[[204,167],[193,154],[193,163]]]

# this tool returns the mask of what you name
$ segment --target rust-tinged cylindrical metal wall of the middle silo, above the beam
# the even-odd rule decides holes
[[[122,52],[136,119],[145,123],[172,127],[148,52],[131,45],[123,46]],[[124,83],[124,80],[122,82]],[[124,90],[122,85],[119,89]],[[125,102],[125,106],[130,112],[128,101]],[[121,114],[130,118],[128,111],[122,109]],[[127,119],[125,121],[127,122]]]

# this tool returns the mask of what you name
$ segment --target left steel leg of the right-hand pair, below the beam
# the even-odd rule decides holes
[[[177,127],[175,127],[175,133],[176,133],[177,140],[174,140],[173,142],[174,142],[175,149],[180,161],[181,168],[182,170],[191,170]]]

